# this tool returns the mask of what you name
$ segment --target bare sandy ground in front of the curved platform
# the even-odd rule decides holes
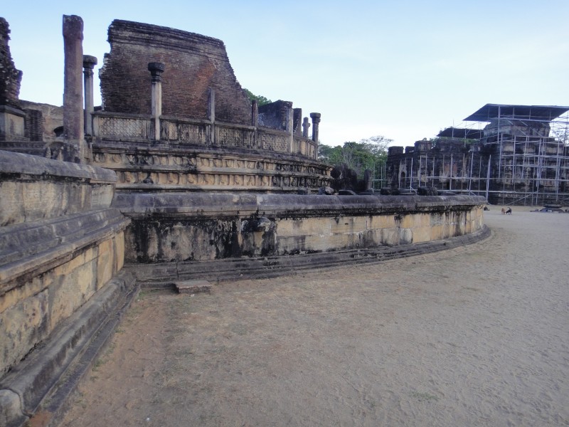
[[[143,292],[63,426],[569,426],[569,214],[450,251]]]

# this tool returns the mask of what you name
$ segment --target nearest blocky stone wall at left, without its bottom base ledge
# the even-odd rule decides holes
[[[127,218],[106,169],[0,151],[0,374],[107,285]]]

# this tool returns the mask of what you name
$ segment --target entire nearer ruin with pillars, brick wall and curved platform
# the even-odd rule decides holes
[[[18,100],[4,20],[0,32],[2,426],[37,411],[57,423],[140,286],[191,290],[489,235],[482,197],[317,195],[332,182],[320,114],[250,103],[215,38],[113,21],[95,108],[97,58],[83,54],[83,20],[64,16],[62,110]]]

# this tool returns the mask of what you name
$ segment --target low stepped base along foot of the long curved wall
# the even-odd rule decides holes
[[[465,236],[410,245],[261,258],[129,264],[125,265],[124,268],[136,275],[137,283],[142,288],[171,288],[174,283],[181,280],[201,279],[220,282],[250,278],[272,278],[280,275],[295,275],[298,271],[309,269],[329,268],[346,264],[381,263],[385,260],[457,248],[482,241],[489,236],[490,229],[484,226],[482,230]]]

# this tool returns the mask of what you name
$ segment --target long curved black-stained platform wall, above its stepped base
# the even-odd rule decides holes
[[[440,241],[482,229],[477,196],[119,194],[127,263],[290,255]]]

